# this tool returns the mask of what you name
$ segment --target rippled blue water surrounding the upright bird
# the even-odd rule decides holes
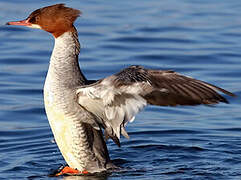
[[[54,1],[54,3],[63,1]],[[108,142],[121,172],[58,179],[240,179],[241,1],[78,1],[80,64],[99,79],[131,64],[172,69],[236,95],[213,107],[142,111],[121,139]],[[53,48],[50,34],[8,27],[47,0],[0,1],[0,179],[48,179],[64,163],[43,106]],[[55,178],[50,178],[55,179]]]

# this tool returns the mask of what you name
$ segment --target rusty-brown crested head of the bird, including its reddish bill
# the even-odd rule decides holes
[[[52,33],[55,38],[67,31],[73,31],[73,23],[81,12],[77,9],[55,4],[33,11],[26,20],[8,22],[8,25],[20,25],[40,28]]]

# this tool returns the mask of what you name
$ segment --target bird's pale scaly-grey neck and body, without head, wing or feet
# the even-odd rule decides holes
[[[77,87],[87,83],[79,69],[78,54],[75,29],[56,38],[44,85],[45,109],[56,143],[68,165],[80,171],[103,171],[109,156],[102,134],[88,125],[95,117],[76,101]],[[99,147],[92,144],[93,138]],[[94,148],[102,150],[95,154]]]

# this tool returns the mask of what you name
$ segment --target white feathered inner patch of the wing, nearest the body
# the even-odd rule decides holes
[[[120,139],[120,134],[129,137],[124,127],[135,119],[147,101],[139,95],[142,91],[140,84],[115,88],[108,79],[100,84],[83,87],[77,90],[79,104],[95,114],[106,127],[111,127]]]

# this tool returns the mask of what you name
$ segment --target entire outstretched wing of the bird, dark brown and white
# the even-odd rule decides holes
[[[130,66],[121,72],[78,88],[78,103],[93,113],[105,135],[119,144],[128,138],[125,125],[147,104],[159,106],[228,103],[218,91],[234,94],[174,71]]]

